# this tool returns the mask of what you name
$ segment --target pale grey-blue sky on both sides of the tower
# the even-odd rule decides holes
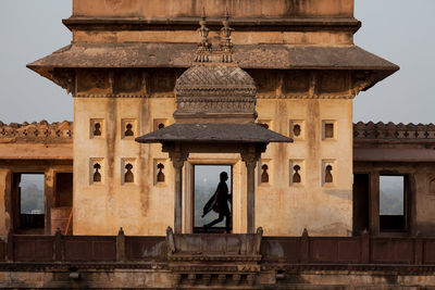
[[[26,68],[71,41],[71,0],[0,0],[0,121],[73,121],[71,94]],[[400,71],[355,101],[353,121],[435,123],[435,0],[356,0],[356,45]]]

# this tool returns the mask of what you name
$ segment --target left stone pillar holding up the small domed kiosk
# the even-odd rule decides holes
[[[171,147],[167,152],[175,169],[174,190],[174,232],[182,234],[183,228],[183,165],[187,160],[188,152],[185,152],[181,144]]]

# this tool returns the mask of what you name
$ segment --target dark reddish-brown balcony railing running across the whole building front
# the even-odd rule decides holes
[[[225,238],[223,238],[225,236]],[[256,256],[252,261],[274,264],[338,265],[435,265],[435,239],[360,237],[261,237],[256,235],[174,235],[132,237],[122,230],[117,236],[8,236],[0,241],[2,262],[36,263],[140,263],[174,261],[183,256]],[[195,242],[192,242],[195,241]],[[222,244],[221,244],[222,243]],[[183,245],[184,244],[184,245]],[[260,244],[259,252],[254,250]],[[188,251],[178,247],[187,247]],[[196,249],[198,247],[198,249]],[[244,252],[247,247],[253,250]],[[201,248],[201,249],[199,249]],[[209,253],[208,249],[213,249]],[[231,249],[231,250],[229,250]],[[236,257],[237,259],[237,257]]]

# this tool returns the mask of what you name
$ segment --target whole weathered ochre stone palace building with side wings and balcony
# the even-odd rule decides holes
[[[352,124],[399,70],[353,43],[353,0],[74,0],[63,24],[27,66],[74,122],[0,123],[1,287],[435,286],[435,127]],[[229,168],[228,235],[198,226],[204,165]]]

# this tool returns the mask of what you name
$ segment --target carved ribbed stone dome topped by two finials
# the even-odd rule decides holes
[[[241,70],[232,54],[233,43],[227,18],[221,29],[219,49],[211,49],[204,18],[199,28],[201,42],[190,68],[175,84],[178,121],[253,122],[256,113],[256,83]]]

